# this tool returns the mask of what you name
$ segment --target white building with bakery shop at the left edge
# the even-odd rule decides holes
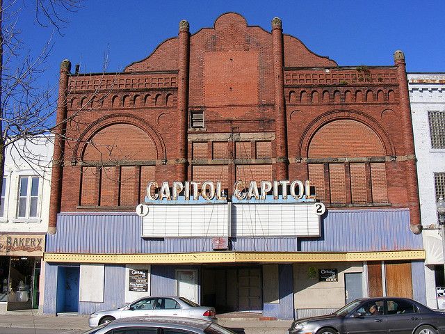
[[[6,149],[0,204],[0,311],[42,305],[40,273],[48,230],[53,138]]]

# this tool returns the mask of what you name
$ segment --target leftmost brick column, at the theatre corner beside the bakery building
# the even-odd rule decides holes
[[[65,59],[60,64],[60,78],[58,81],[58,100],[56,127],[54,127],[54,154],[51,171],[51,197],[49,199],[48,232],[56,233],[57,214],[60,212],[62,197],[63,155],[65,152],[65,132],[67,119],[68,74],[71,63]]]

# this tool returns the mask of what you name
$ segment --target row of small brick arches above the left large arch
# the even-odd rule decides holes
[[[105,95],[102,97],[73,97],[70,107],[73,108],[132,108],[140,106],[175,106],[175,96],[172,93],[146,95]]]

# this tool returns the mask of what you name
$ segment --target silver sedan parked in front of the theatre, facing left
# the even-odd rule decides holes
[[[116,310],[94,312],[90,315],[88,324],[90,327],[95,327],[114,319],[140,316],[186,317],[217,321],[215,308],[197,305],[183,297],[149,296]]]

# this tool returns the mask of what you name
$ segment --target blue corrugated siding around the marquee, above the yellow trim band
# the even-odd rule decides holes
[[[189,253],[212,251],[211,239],[140,237],[133,213],[59,214],[56,234],[47,234],[49,253]],[[233,238],[237,251],[351,252],[423,249],[410,231],[408,209],[332,210],[321,221],[321,237]]]

